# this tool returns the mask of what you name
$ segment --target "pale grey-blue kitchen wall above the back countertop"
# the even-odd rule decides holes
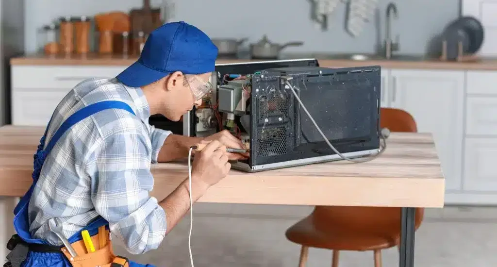
[[[169,0],[174,2],[173,20],[196,25],[210,37],[248,37],[258,41],[267,34],[270,41],[304,41],[301,47],[284,52],[372,53],[383,42],[386,6],[395,2],[399,18],[392,20],[392,34],[400,35],[400,53],[424,54],[429,41],[460,14],[460,0],[379,0],[380,33],[372,19],[358,37],[345,31],[345,4],[339,2],[322,31],[310,19],[310,0]],[[129,11],[141,7],[142,0],[26,0],[25,47],[38,48],[38,29],[60,16],[92,16],[98,12]],[[161,0],[152,0],[152,3]]]

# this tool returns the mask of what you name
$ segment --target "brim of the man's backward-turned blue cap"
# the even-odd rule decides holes
[[[157,71],[137,61],[116,76],[116,78],[126,86],[142,87],[159,81],[168,74],[170,72]]]

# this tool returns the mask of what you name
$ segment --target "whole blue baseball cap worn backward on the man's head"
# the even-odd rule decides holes
[[[150,33],[140,58],[116,78],[142,87],[173,72],[202,74],[214,71],[218,48],[209,36],[184,21],[166,23]]]

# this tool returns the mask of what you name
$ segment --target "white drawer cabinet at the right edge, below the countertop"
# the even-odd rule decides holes
[[[497,204],[497,73],[468,71],[461,204]]]

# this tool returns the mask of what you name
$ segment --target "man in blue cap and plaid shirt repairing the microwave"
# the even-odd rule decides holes
[[[208,80],[217,54],[198,28],[167,23],[150,34],[140,59],[116,78],[83,81],[64,97],[35,155],[33,186],[14,211],[21,244],[30,248],[24,267],[108,264],[103,258],[87,264],[80,255],[86,252],[72,257],[62,249],[64,256],[55,247],[63,243],[54,229],[74,245],[83,242],[82,230],[96,237],[108,225],[130,253],[156,249],[190,208],[189,193],[198,200],[227,175],[229,159],[244,157],[226,153],[226,147],[243,148],[229,132],[202,139],[148,123],[151,114],[179,121],[200,104],[212,89]],[[184,158],[199,142],[209,143],[195,156],[192,192],[185,177],[165,199],[151,197],[151,163]]]

